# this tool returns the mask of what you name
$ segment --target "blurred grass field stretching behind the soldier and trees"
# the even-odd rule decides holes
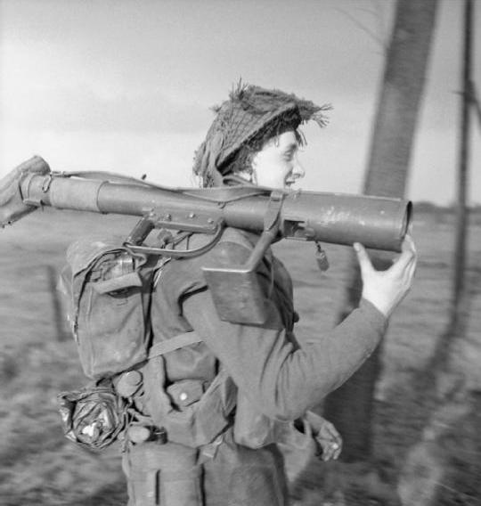
[[[376,394],[376,465],[327,466],[287,453],[297,505],[481,504],[481,223],[469,234],[469,320],[452,346],[447,387],[425,374],[448,324],[452,283],[452,216],[417,216],[420,252],[416,282],[393,316],[383,349]],[[0,230],[0,504],[3,506],[109,506],[126,501],[118,449],[88,453],[61,434],[56,395],[86,383],[58,299],[54,280],[70,241],[92,233],[126,235],[135,219],[46,209]],[[320,273],[312,244],[281,241],[277,254],[296,287],[300,340],[334,324],[346,282],[349,249],[328,246],[330,270]],[[436,365],[436,364],[435,364]],[[428,380],[427,380],[428,378]],[[437,393],[437,396],[436,396]],[[332,469],[333,466],[330,466]],[[335,467],[335,466],[334,466]],[[363,479],[357,479],[363,475]],[[329,473],[328,473],[329,474]],[[347,476],[350,495],[333,494],[332,476]],[[361,490],[363,489],[363,490]],[[417,502],[418,501],[418,502]]]

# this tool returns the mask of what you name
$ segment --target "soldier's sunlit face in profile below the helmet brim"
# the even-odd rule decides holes
[[[304,177],[298,161],[299,143],[294,130],[273,137],[252,159],[254,182],[259,186],[289,188]]]

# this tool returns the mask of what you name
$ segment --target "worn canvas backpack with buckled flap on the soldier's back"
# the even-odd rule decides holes
[[[168,258],[135,256],[120,241],[80,240],[67,250],[59,290],[82,369],[92,380],[148,357],[154,275]]]

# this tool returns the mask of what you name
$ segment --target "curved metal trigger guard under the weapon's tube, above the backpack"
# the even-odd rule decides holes
[[[151,219],[151,216],[143,216],[141,220],[135,225],[134,230],[128,235],[126,241],[124,241],[123,246],[135,255],[159,255],[172,258],[198,257],[199,255],[206,253],[209,249],[213,248],[216,245],[216,242],[219,241],[224,231],[224,222],[219,221],[216,224],[214,232],[208,232],[209,235],[214,236],[211,241],[208,241],[207,244],[200,246],[200,248],[194,249],[170,249],[159,248],[156,246],[143,246],[143,241],[155,228],[157,227],[154,221]],[[174,245],[182,241],[189,234],[190,233],[181,233],[177,237],[177,240],[174,241]]]

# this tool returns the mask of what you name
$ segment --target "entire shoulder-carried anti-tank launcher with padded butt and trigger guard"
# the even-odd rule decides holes
[[[274,240],[346,245],[358,241],[367,248],[400,251],[412,213],[411,202],[399,199],[283,192],[250,185],[173,189],[104,172],[57,173],[44,159],[33,157],[0,181],[0,224],[11,224],[42,206],[141,216],[125,243],[136,254],[200,255],[214,246],[226,226],[260,233],[246,265],[204,269],[221,317],[223,312],[229,313],[227,306],[237,305],[236,312],[241,306],[242,314],[254,309],[253,292],[232,290],[232,286],[253,288],[256,266]],[[194,250],[152,248],[144,241],[154,229],[204,233],[211,240]],[[262,314],[255,318],[261,320]],[[225,319],[242,321],[239,315]],[[249,322],[252,319],[250,313]]]

